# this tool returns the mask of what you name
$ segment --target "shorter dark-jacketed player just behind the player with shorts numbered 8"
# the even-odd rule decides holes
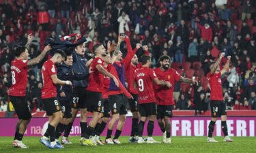
[[[84,73],[75,73],[72,69],[72,65],[73,65],[72,54],[68,54],[67,52],[66,54],[67,54],[66,61],[64,61],[63,63],[61,63],[61,65],[58,65],[57,67],[57,78],[64,81],[70,80],[71,82],[73,80],[85,80],[88,76],[88,73],[86,71]],[[55,139],[58,143],[59,136],[65,130],[66,125],[68,125],[72,120],[71,105],[72,105],[72,98],[73,98],[73,90],[72,90],[72,86],[58,85],[57,91],[58,91],[57,99],[61,104],[61,112],[62,112],[62,118],[59,121],[59,124],[57,125],[56,131],[55,131]],[[68,141],[68,138],[62,139],[61,143],[71,144],[71,142]]]

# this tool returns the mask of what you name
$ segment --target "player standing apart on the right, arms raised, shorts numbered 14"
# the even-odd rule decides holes
[[[232,142],[227,133],[227,112],[226,105],[223,101],[223,88],[221,86],[221,75],[229,70],[229,63],[231,56],[227,56],[227,63],[220,69],[221,59],[225,56],[225,53],[221,53],[218,61],[210,66],[210,72],[207,74],[210,84],[210,107],[212,113],[212,120],[208,126],[208,142],[218,142],[212,137],[214,126],[218,117],[221,117],[221,129],[225,135],[223,141]]]

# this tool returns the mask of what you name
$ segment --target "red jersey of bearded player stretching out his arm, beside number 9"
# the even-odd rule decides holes
[[[180,81],[180,73],[175,69],[167,69],[162,71],[160,68],[154,70],[159,80],[171,82],[172,87],[159,86],[155,84],[156,103],[158,105],[174,105],[173,90],[175,82]]]

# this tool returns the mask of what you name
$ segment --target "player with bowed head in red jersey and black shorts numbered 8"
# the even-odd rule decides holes
[[[56,65],[60,64],[66,58],[65,52],[55,50],[53,57],[42,66],[42,102],[44,109],[48,115],[48,129],[44,136],[40,138],[40,142],[48,148],[63,148],[55,141],[55,128],[61,120],[61,105],[57,101],[57,84],[72,86],[70,80],[63,81],[57,78]],[[49,139],[50,138],[50,139]],[[50,141],[49,141],[50,140]]]

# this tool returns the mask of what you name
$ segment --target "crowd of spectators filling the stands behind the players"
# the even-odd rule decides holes
[[[216,1],[217,2],[217,1]],[[30,58],[40,54],[44,39],[60,39],[81,33],[89,42],[85,56],[91,58],[95,44],[117,44],[118,33],[130,37],[132,48],[147,45],[152,67],[162,54],[171,57],[181,75],[199,80],[199,85],[175,83],[175,109],[209,109],[210,89],[205,75],[220,52],[231,55],[229,73],[223,75],[223,94],[228,109],[256,109],[256,14],[255,0],[16,0],[0,1],[0,111],[12,111],[8,88],[12,84],[10,62],[13,50],[27,43],[33,33]],[[120,50],[126,54],[127,46]],[[137,51],[137,56],[143,50]],[[47,57],[46,57],[47,58]],[[46,61],[46,59],[44,59]],[[29,67],[27,103],[31,112],[41,111],[42,77],[39,65]],[[223,58],[221,66],[227,61]]]

